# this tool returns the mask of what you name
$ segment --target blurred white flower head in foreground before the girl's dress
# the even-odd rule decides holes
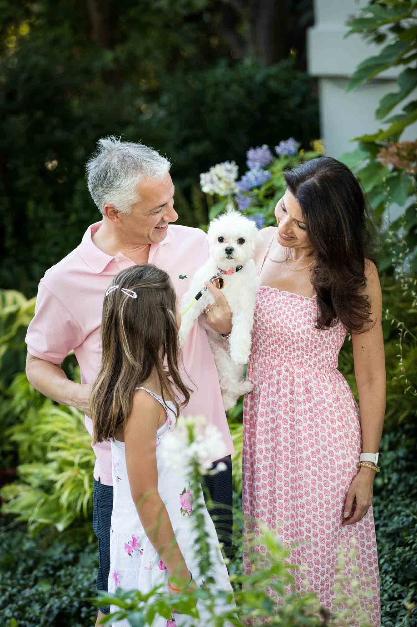
[[[194,440],[190,443],[190,433]],[[167,434],[168,435],[168,434]],[[223,436],[214,424],[205,423],[204,416],[180,418],[169,437],[165,437],[164,455],[172,466],[188,465],[197,458],[202,472],[209,470],[213,460],[219,460],[227,454]],[[224,470],[218,465],[217,469]]]

